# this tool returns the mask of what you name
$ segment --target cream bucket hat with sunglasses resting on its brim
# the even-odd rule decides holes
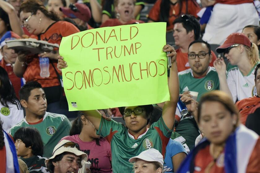
[[[75,145],[74,145],[74,144]],[[74,147],[73,147],[74,145]],[[55,158],[57,155],[62,154],[64,152],[70,152],[77,156],[81,156],[81,165],[84,165],[88,161],[88,155],[82,151],[80,151],[79,146],[77,143],[69,141],[69,140],[62,140],[60,141],[53,149],[52,156],[45,160],[45,165],[50,161],[50,159]]]

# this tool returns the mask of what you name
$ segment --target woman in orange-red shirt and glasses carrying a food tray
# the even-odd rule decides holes
[[[79,30],[69,22],[59,21],[59,17],[53,11],[47,11],[44,4],[38,0],[27,0],[24,1],[19,10],[20,19],[31,34],[31,38],[37,40],[45,40],[49,43],[60,44],[62,37],[69,36]],[[54,110],[50,110],[50,103],[60,103],[63,89],[59,79],[57,60],[59,50],[52,52],[44,52],[37,55],[29,55],[28,52],[19,52],[18,58],[15,61],[14,73],[18,77],[24,77],[28,81],[37,81],[43,87],[46,98],[48,101],[48,112],[57,112],[59,108],[55,107]],[[44,61],[49,75],[43,76],[41,74],[42,64],[40,65],[39,59]]]

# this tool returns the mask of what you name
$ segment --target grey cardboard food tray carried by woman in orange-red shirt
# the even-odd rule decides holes
[[[7,40],[7,47],[15,49],[17,51],[30,51],[32,54],[38,54],[41,52],[48,52],[59,48],[59,44],[52,44],[43,40],[36,40],[32,38]]]

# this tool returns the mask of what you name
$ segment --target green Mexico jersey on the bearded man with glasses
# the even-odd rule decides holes
[[[219,90],[219,77],[214,67],[210,67],[206,76],[202,78],[194,78],[191,69],[187,69],[178,73],[180,83],[180,94],[184,91],[198,92],[197,101],[201,95],[212,90]]]

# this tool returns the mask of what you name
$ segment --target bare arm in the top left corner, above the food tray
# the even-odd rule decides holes
[[[17,16],[15,8],[4,0],[0,0],[0,8],[2,8],[8,14],[12,31],[19,36],[22,36],[24,31],[20,25],[20,20]]]

